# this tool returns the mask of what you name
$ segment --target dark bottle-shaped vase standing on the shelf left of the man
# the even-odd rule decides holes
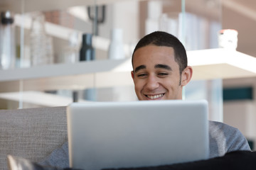
[[[95,49],[92,47],[92,34],[82,35],[82,46],[80,48],[80,61],[95,60]]]

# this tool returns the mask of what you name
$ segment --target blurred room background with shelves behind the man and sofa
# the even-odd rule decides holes
[[[194,69],[183,98],[207,99],[210,120],[239,128],[253,148],[254,0],[0,0],[0,11],[1,109],[137,100],[134,46],[164,30]]]

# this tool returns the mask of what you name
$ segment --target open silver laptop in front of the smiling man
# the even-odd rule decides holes
[[[70,167],[99,170],[208,158],[206,101],[72,103]]]

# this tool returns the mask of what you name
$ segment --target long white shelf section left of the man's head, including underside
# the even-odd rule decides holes
[[[131,59],[2,70],[0,71],[0,93],[20,89],[45,91],[125,86],[132,84],[128,70],[129,72],[132,70]]]

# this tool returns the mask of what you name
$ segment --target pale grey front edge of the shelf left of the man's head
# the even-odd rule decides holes
[[[130,59],[129,59],[130,60]],[[73,76],[75,74],[94,74],[98,72],[123,72],[132,67],[129,60],[98,60],[88,62],[49,64],[30,68],[7,69],[0,71],[0,81],[16,81],[19,79],[40,79],[61,76]]]

